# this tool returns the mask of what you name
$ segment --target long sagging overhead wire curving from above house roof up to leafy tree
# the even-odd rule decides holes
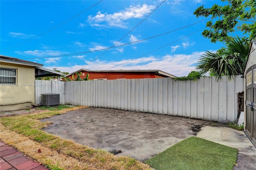
[[[210,18],[206,18],[205,20],[209,20]],[[124,45],[129,45],[129,44],[132,44],[132,43],[136,43],[136,42],[141,42],[141,41],[144,41],[144,40],[149,40],[151,38],[156,38],[156,37],[159,37],[159,36],[163,36],[165,34],[169,34],[171,32],[174,32],[174,31],[178,31],[178,30],[181,30],[183,28],[187,28],[189,26],[192,26],[192,25],[195,25],[195,24],[198,24],[200,22],[204,22],[205,20],[202,20],[202,21],[199,21],[199,22],[196,22],[194,24],[190,24],[188,26],[184,26],[184,27],[181,27],[181,28],[178,28],[176,30],[172,30],[172,31],[169,31],[169,32],[166,32],[166,33],[163,33],[163,34],[159,34],[159,35],[156,35],[156,36],[152,36],[152,37],[149,37],[149,38],[145,38],[145,39],[142,39],[142,40],[138,40],[138,41],[135,41],[135,42],[130,42],[130,43],[125,43],[125,44],[121,44],[121,45],[116,45],[116,46],[112,46],[112,47],[108,47],[108,48],[103,48],[103,49],[96,49],[96,50],[93,50],[93,51],[86,51],[86,52],[81,52],[81,53],[72,53],[72,54],[65,54],[65,55],[55,55],[55,56],[48,56],[48,57],[33,57],[33,58],[22,58],[22,59],[36,59],[36,58],[51,58],[51,57],[64,57],[64,56],[69,56],[69,55],[78,55],[78,54],[84,54],[84,53],[92,53],[92,52],[96,52],[96,51],[102,51],[104,49],[110,49],[110,48],[115,48],[115,47],[120,47],[120,46],[124,46]]]

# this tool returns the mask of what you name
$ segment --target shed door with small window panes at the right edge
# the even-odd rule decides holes
[[[246,70],[246,129],[245,133],[256,146],[256,65]]]

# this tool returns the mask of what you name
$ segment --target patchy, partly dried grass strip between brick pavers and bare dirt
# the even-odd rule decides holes
[[[0,119],[0,138],[51,169],[150,169],[148,165],[133,158],[127,156],[117,157],[109,152],[89,148],[41,130],[51,123],[41,123],[40,119],[81,108],[83,107],[72,107],[61,111],[46,111],[15,117],[2,117]],[[42,153],[38,153],[39,148]]]

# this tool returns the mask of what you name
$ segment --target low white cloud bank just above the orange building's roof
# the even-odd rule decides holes
[[[99,59],[95,60],[94,62],[90,63],[90,61],[85,60],[85,64],[90,63],[86,67],[84,65],[74,65],[73,67],[58,67],[61,71],[66,72],[75,72],[82,67],[84,69],[90,70],[131,70],[131,69],[159,69],[165,71],[166,73],[170,73],[172,75],[176,75],[178,77],[187,76],[195,69],[195,65],[198,61],[200,55],[204,52],[194,52],[189,55],[185,54],[177,54],[177,55],[165,55],[160,58],[156,58],[154,56],[150,57],[142,57],[138,59],[134,59],[130,61],[130,59],[125,59],[122,61],[101,61]],[[124,63],[124,64],[123,64]],[[122,65],[120,65],[122,64]],[[72,65],[72,64],[71,64]],[[119,65],[115,67],[116,65]],[[112,68],[113,67],[113,68]],[[49,67],[50,69],[54,67]]]

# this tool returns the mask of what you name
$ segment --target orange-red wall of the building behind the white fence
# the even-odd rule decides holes
[[[81,75],[81,78],[85,78],[87,73],[89,73],[89,79],[142,79],[142,78],[164,78],[154,73],[143,73],[143,72],[90,72],[82,71],[84,75]],[[74,75],[75,78],[77,75]],[[69,76],[72,79],[72,75]]]

